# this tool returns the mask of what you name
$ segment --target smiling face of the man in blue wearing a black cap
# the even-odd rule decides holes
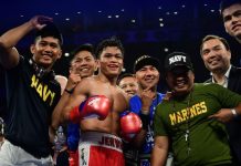
[[[136,72],[137,82],[143,90],[156,87],[159,76],[159,71],[153,65],[145,65]]]

